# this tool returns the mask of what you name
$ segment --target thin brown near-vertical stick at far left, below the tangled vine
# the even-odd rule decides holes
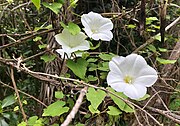
[[[22,112],[22,115],[23,115],[23,120],[25,122],[27,122],[27,117],[26,117],[26,114],[24,112],[24,109],[23,109],[23,106],[22,106],[22,103],[21,103],[21,99],[19,97],[19,92],[18,92],[18,89],[17,89],[17,86],[16,86],[16,82],[15,82],[15,79],[14,79],[13,67],[11,67],[11,80],[12,80],[14,90],[15,90],[15,93],[16,93],[16,96],[17,96],[17,99],[18,99],[18,102],[19,102],[19,106],[20,106],[20,109],[21,109],[21,112]]]

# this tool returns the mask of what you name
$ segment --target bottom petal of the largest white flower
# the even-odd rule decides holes
[[[128,96],[131,99],[139,99],[142,98],[146,92],[147,88],[141,85],[133,85],[133,84],[127,84],[124,94]]]

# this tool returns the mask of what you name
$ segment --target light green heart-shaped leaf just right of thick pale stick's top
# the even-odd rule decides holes
[[[92,107],[97,110],[98,106],[104,100],[106,93],[102,90],[95,90],[94,88],[89,88],[86,94],[87,100],[91,102]]]

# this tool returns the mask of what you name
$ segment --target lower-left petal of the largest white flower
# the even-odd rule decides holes
[[[109,72],[107,75],[107,83],[110,85],[114,90],[118,92],[123,92],[125,87],[127,86],[126,83],[124,83],[124,80],[121,76],[119,76],[117,73]]]

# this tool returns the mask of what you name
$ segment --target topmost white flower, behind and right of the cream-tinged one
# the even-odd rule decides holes
[[[94,40],[110,41],[113,34],[110,30],[113,29],[113,23],[110,19],[102,17],[98,13],[89,12],[81,17],[84,31]]]

